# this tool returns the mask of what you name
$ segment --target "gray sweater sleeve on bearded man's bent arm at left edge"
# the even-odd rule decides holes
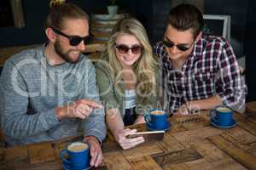
[[[11,62],[6,62],[0,78],[1,126],[5,135],[12,139],[25,139],[55,127],[58,122],[55,109],[29,112],[28,82]]]

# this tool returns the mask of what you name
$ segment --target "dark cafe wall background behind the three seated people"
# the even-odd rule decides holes
[[[91,16],[108,16],[110,0],[67,0]],[[44,43],[44,19],[49,0],[2,0],[0,4],[0,67],[11,54]],[[116,0],[118,14],[136,17],[148,31],[152,45],[162,39],[166,16],[178,3],[192,3],[203,14],[230,15],[230,42],[240,65],[245,69],[247,102],[256,100],[256,1],[253,0]]]

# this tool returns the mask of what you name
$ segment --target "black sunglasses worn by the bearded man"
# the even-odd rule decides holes
[[[90,34],[89,36],[85,36],[85,37],[67,36],[67,35],[64,34],[63,32],[58,31],[58,30],[56,30],[56,29],[54,29],[54,28],[52,28],[52,30],[55,31],[55,33],[57,33],[57,34],[60,34],[61,36],[67,37],[68,40],[69,40],[69,44],[70,44],[71,46],[77,46],[77,45],[79,45],[79,43],[81,43],[82,40],[84,41],[84,45],[86,45],[86,44],[92,42],[92,40],[93,40],[93,35],[92,35],[92,34]]]

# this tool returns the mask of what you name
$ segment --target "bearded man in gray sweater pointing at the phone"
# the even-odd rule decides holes
[[[49,41],[15,54],[0,79],[1,127],[9,145],[62,139],[83,122],[90,165],[102,161],[104,110],[95,68],[82,54],[90,41],[89,18],[73,4],[57,4],[45,21]]]

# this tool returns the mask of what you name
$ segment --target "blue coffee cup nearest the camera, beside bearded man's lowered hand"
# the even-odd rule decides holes
[[[66,155],[68,155],[68,159]],[[67,169],[84,170],[90,168],[89,145],[82,142],[68,144],[67,150],[61,150],[61,160]]]

